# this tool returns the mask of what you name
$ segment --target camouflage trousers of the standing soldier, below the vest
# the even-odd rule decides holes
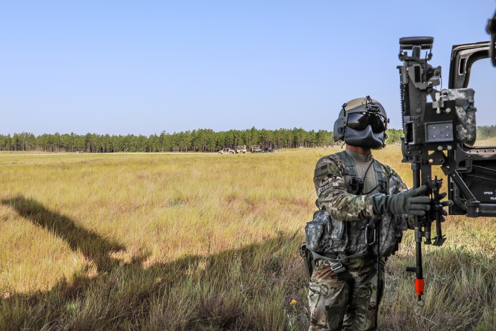
[[[355,284],[359,284],[367,279],[375,265],[375,258],[366,257],[350,260],[346,264],[346,269],[355,279]],[[317,260],[310,279],[309,331],[374,330],[375,307],[382,298],[384,287],[384,272],[381,271],[379,274],[379,289],[377,289],[377,272],[365,284],[350,288],[346,281],[331,270],[328,261]]]

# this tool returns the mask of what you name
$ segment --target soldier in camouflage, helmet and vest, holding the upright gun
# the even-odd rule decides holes
[[[424,215],[431,207],[429,197],[419,196],[425,186],[407,190],[393,169],[372,157],[371,149],[385,146],[387,123],[384,108],[369,96],[345,103],[334,124],[334,137],[345,141],[346,150],[317,161],[313,178],[317,205],[325,209],[329,217],[325,226],[330,229],[322,236],[318,224],[323,223],[315,219],[305,229],[315,262],[309,290],[310,331],[375,329],[384,257],[398,249],[407,226],[413,228],[413,217],[408,215]],[[384,226],[391,221],[397,224],[396,233],[374,232],[379,222]],[[371,245],[377,232],[386,237],[379,242],[388,246],[387,252]],[[310,247],[309,237],[317,238]]]

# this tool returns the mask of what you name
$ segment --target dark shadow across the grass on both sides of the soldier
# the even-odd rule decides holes
[[[125,250],[122,243],[34,199],[1,202],[64,240],[98,272],[89,276],[83,268],[48,291],[4,296],[0,330],[308,330],[308,288],[297,256],[302,234],[278,233],[239,249],[145,267],[144,256],[128,263],[112,258]],[[404,271],[411,258],[388,263],[395,279],[379,330],[496,330],[494,259],[462,249],[427,254],[432,284],[420,310]],[[298,303],[290,305],[293,299]]]

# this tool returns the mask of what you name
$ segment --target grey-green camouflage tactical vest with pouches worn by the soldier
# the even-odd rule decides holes
[[[343,160],[346,175],[350,177],[351,183],[353,178],[357,177],[355,161],[345,151],[336,153],[336,155]],[[377,192],[389,195],[398,193],[398,179],[395,176],[386,178],[379,162],[373,159],[372,163]],[[355,194],[356,189],[349,185],[347,191]],[[380,252],[377,252],[377,245],[372,245],[377,239],[374,231],[377,223],[380,229]],[[339,259],[361,257],[372,250],[374,255],[387,257],[398,250],[398,244],[406,228],[405,215],[385,213],[380,222],[372,218],[361,221],[341,221],[329,215],[326,210],[317,210],[313,214],[313,220],[305,227],[305,235],[307,249],[322,256],[332,253]]]

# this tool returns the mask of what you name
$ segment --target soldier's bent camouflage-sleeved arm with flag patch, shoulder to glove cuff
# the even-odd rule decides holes
[[[374,213],[369,196],[348,193],[345,175],[344,163],[338,156],[324,156],[317,161],[313,184],[320,204],[332,217],[343,221],[379,218],[380,215]]]

